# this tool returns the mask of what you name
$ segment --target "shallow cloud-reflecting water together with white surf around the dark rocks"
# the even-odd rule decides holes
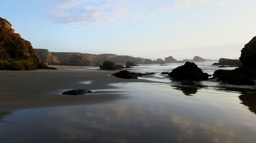
[[[209,74],[220,69],[211,64],[197,63]],[[155,72],[142,79],[156,82],[112,83],[86,95],[105,102],[0,112],[0,142],[255,142],[255,87],[160,74],[180,65],[139,65],[131,71]]]

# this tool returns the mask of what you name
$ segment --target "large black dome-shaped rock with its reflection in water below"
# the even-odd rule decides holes
[[[209,75],[204,73],[195,63],[186,62],[183,66],[177,67],[169,73],[170,77],[178,80],[207,80]]]

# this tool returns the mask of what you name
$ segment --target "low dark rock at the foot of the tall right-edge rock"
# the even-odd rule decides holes
[[[214,77],[218,80],[236,85],[254,85],[252,79],[243,75],[240,69],[236,70],[217,70],[214,72]]]

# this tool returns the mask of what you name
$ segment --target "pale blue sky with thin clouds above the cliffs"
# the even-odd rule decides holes
[[[34,48],[156,60],[238,59],[256,36],[255,0],[0,0]]]

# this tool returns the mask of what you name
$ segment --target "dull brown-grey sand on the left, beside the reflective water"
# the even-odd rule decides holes
[[[116,94],[102,96],[97,90],[115,89],[111,83],[152,82],[143,79],[121,79],[110,76],[116,71],[84,70],[79,66],[51,66],[58,70],[0,71],[0,108],[17,109],[38,106],[99,103],[121,98]],[[61,95],[71,89],[95,91],[97,95]],[[105,94],[106,92],[104,92]],[[111,92],[113,93],[113,92]]]

